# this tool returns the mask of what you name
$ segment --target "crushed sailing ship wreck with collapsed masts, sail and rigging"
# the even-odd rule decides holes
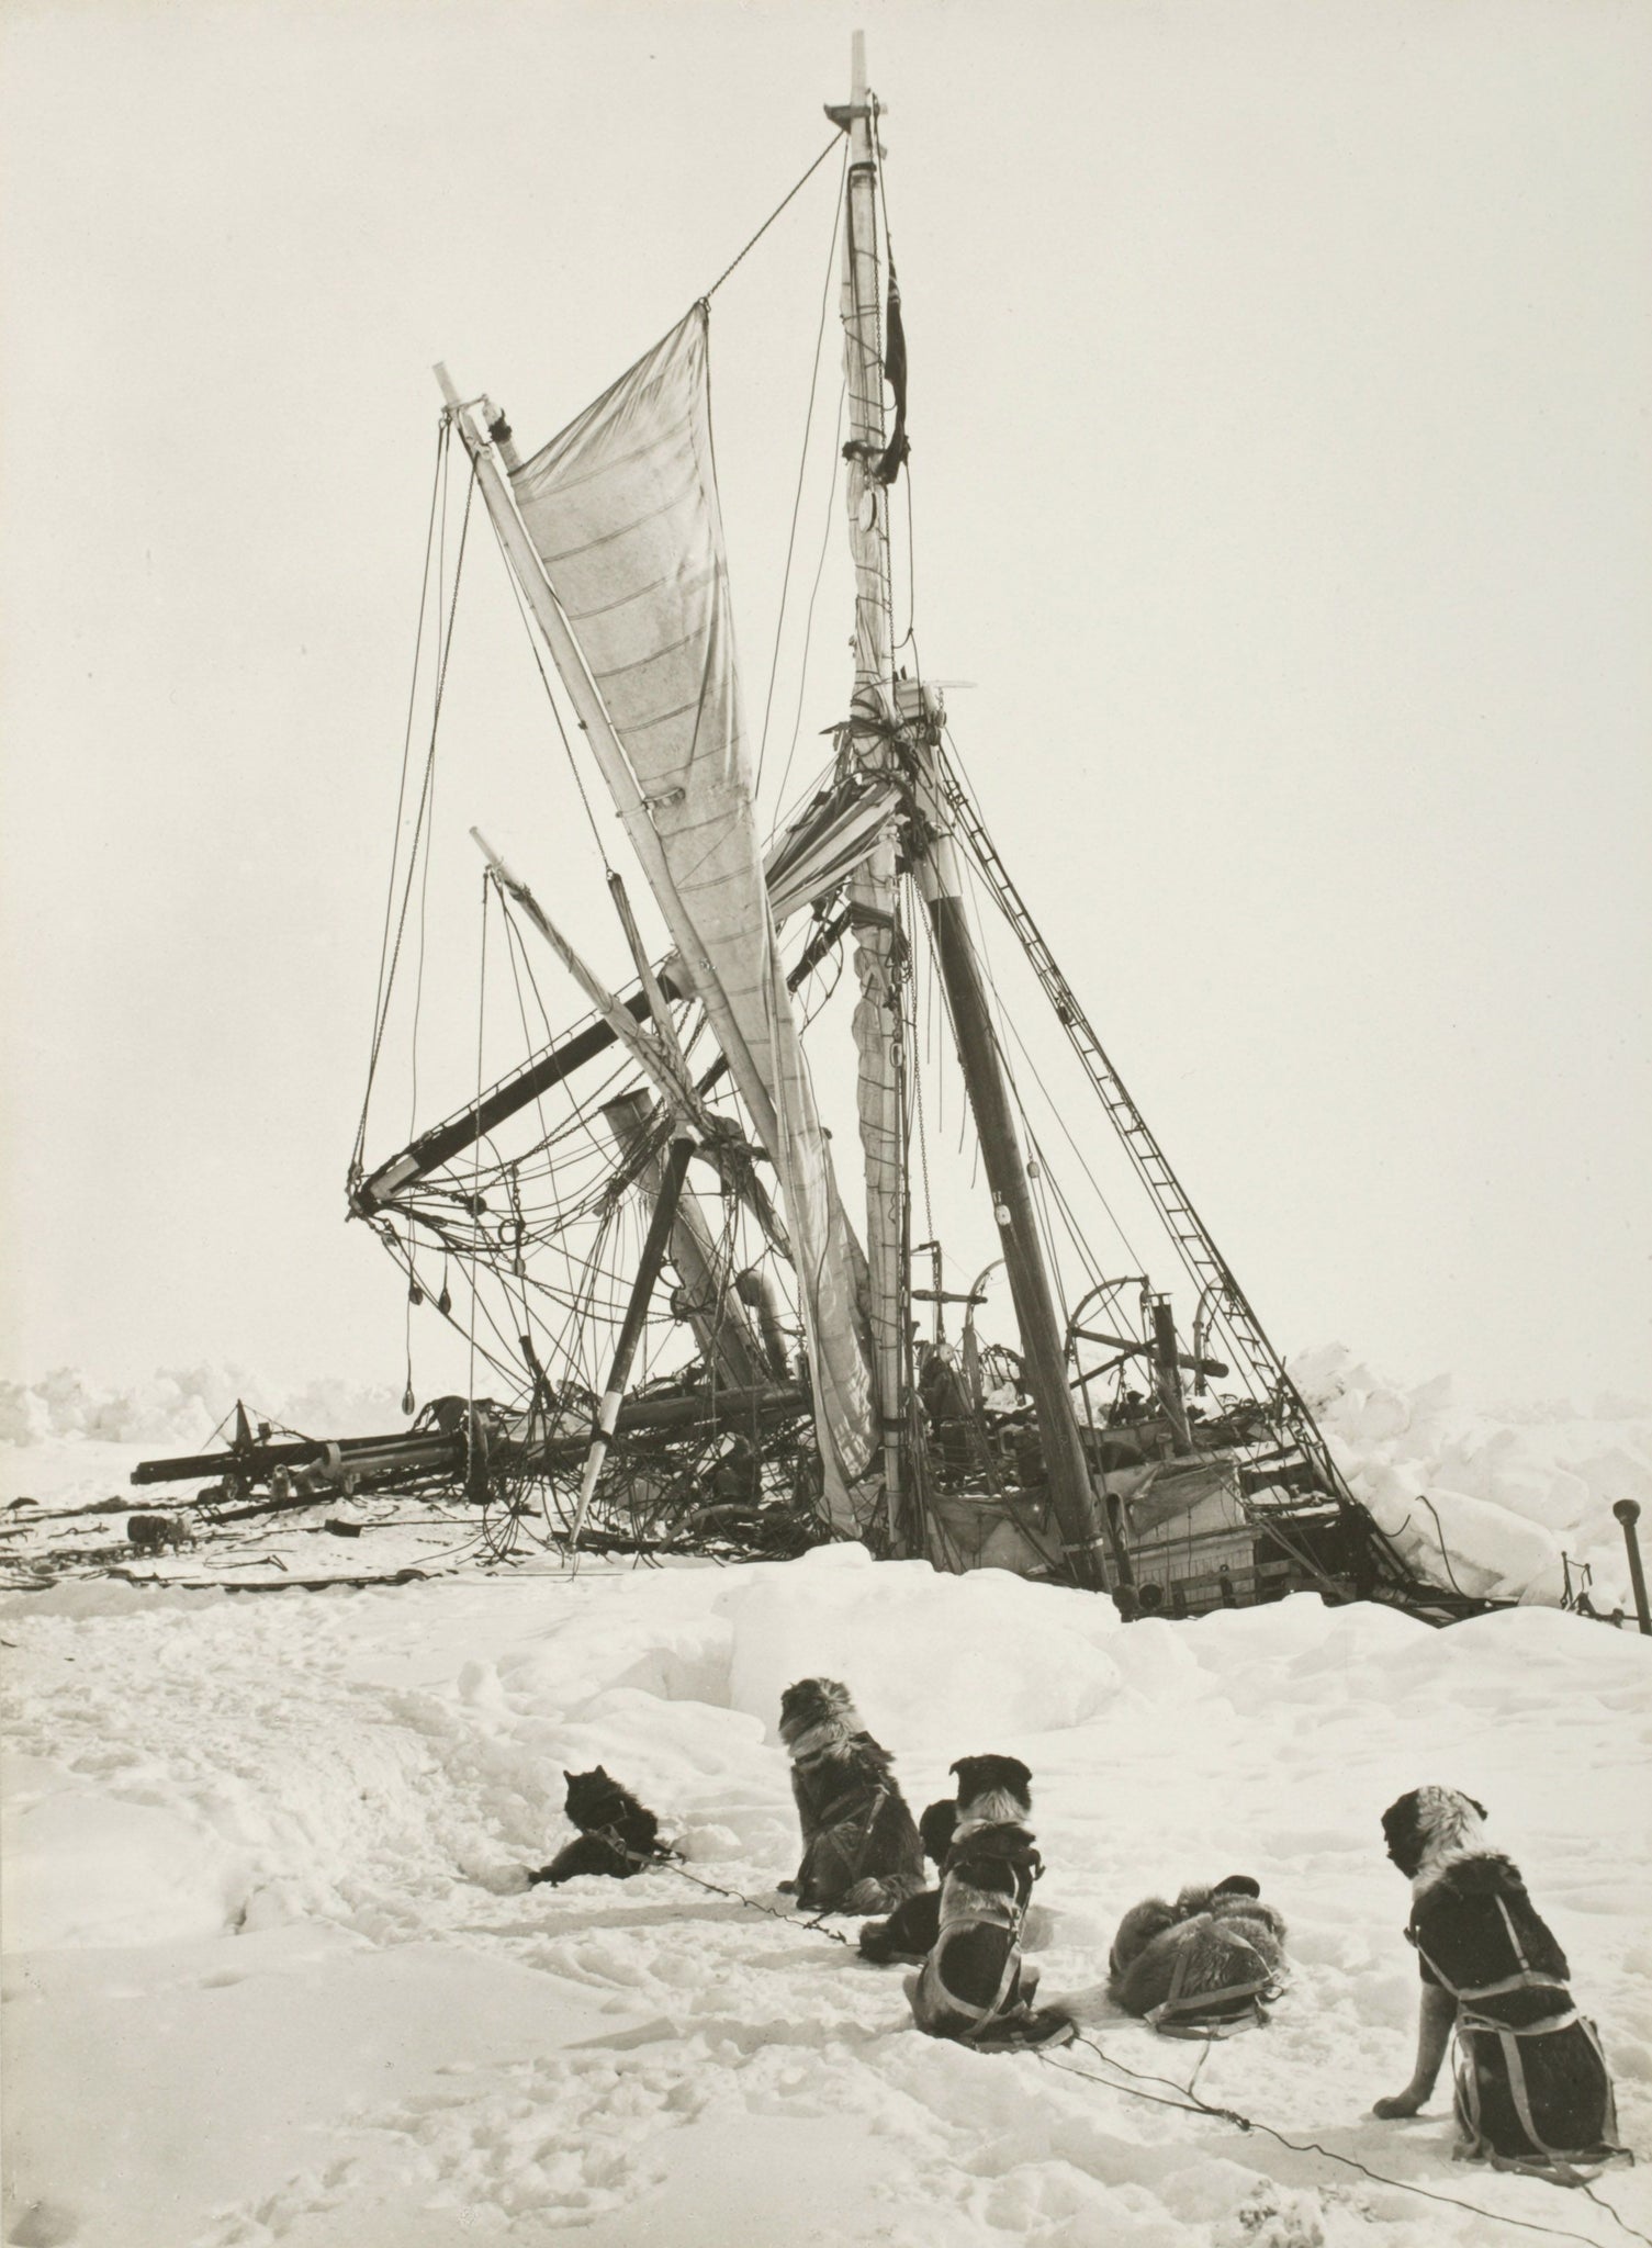
[[[409,1378],[414,1423],[391,1436],[276,1436],[243,1412],[227,1452],[148,1461],[135,1481],[214,1477],[209,1517],[445,1490],[481,1508],[494,1553],[528,1538],[728,1556],[854,1538],[1110,1592],[1126,1614],[1317,1587],[1445,1621],[1481,1603],[1416,1576],[1355,1499],[993,845],[942,688],[910,629],[897,638],[908,371],[879,115],[856,36],[850,101],[827,110],[843,148],[834,474],[854,670],[825,771],[764,834],[708,301],[537,452],[438,369],[438,486],[463,495],[465,526],[472,501],[485,510],[566,753],[629,845],[609,870],[629,969],[611,989],[479,836],[483,960],[492,926],[494,962],[535,998],[548,969],[562,998],[506,1075],[369,1160],[429,868],[452,609],[427,564],[432,746],[423,780],[405,773],[348,1207],[402,1270],[409,1317],[461,1338],[465,1389],[414,1414]],[[517,843],[537,859],[535,836]],[[663,946],[645,937],[647,899]],[[1065,1041],[1090,1095],[1074,1151],[1122,1153],[1153,1268],[1074,1223],[1027,1124],[978,917],[1009,937]],[[852,1007],[829,1007],[845,962]],[[555,1027],[569,980],[587,1012]],[[996,1234],[964,1286],[955,1254],[915,1239],[933,1232],[919,1209],[944,1095],[926,1077],[942,1066],[962,1077],[966,1108],[953,1104]],[[854,1182],[818,1102],[850,1068]]]

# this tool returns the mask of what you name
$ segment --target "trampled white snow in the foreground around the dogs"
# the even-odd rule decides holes
[[[1526,1866],[1652,2142],[1636,1637],[1310,1596],[1122,1628],[854,1547],[281,1598],[63,1585],[7,1601],[0,1637],[16,2248],[1623,2239],[1580,2196],[1452,2167],[1443,2097],[1367,2111],[1416,2010],[1378,1814],[1443,1778]],[[1045,1992],[1108,2055],[1198,2064],[1205,2100],[1492,2214],[1081,2082],[1110,2075],[1083,2046],[924,2039],[899,1971],[683,1875],[524,1888],[566,1834],[564,1767],[605,1762],[688,1873],[784,1909],[773,1720],[809,1670],[852,1684],[915,1810],[955,1756],[1032,1765]],[[1270,2028],[1205,2052],[1113,2016],[1119,1913],[1232,1870],[1292,1931]],[[1652,2228],[1639,2174],[1600,2192]]]

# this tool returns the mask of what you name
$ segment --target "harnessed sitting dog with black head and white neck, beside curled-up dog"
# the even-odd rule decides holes
[[[1034,2010],[1038,1969],[1023,1967],[1020,1924],[1043,1859],[1027,1819],[1032,1774],[1014,1756],[962,1756],[957,1828],[942,1866],[940,1929],[922,1974],[906,1978],[928,2037],[980,2048],[1063,2043],[1065,2014]]]

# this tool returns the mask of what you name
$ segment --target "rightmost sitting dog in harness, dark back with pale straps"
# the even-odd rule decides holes
[[[1600,2039],[1571,2003],[1567,1954],[1490,1850],[1486,1807],[1414,1787],[1382,1812],[1389,1857],[1412,1882],[1407,1942],[1423,1971],[1412,2082],[1373,2113],[1416,2115],[1456,2030],[1459,2160],[1533,2169],[1567,2185],[1623,2156]]]

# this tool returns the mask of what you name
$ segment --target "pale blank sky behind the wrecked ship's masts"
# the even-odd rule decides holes
[[[429,362],[551,434],[825,146],[854,22],[924,659],[1274,1340],[1648,1387],[1652,11],[1603,0],[13,0],[7,1371],[400,1383],[342,1180]],[[753,726],[834,178],[715,306]],[[476,571],[452,812],[555,883]]]

